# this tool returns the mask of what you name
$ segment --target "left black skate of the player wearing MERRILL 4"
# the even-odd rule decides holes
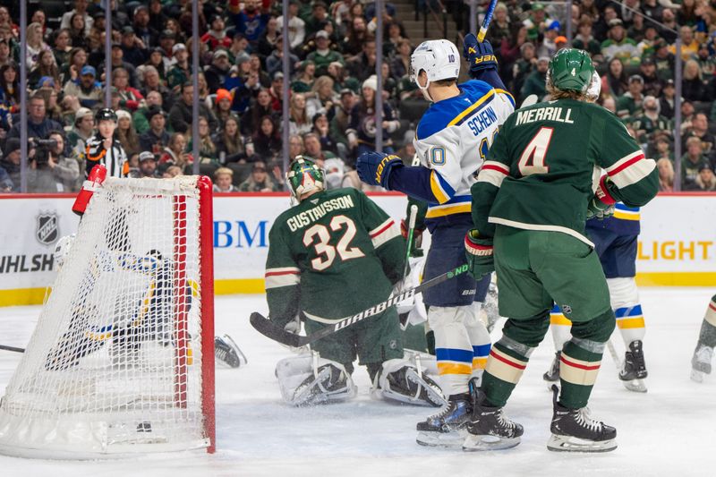
[[[501,407],[485,405],[485,394],[480,388],[474,388],[472,382],[470,393],[473,398],[473,415],[467,424],[463,450],[499,450],[519,444],[523,427],[510,421],[502,413]]]

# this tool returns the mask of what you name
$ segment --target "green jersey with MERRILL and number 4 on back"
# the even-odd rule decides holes
[[[584,223],[599,167],[629,207],[658,191],[654,161],[603,107],[559,99],[519,109],[500,128],[471,189],[474,225],[484,236],[502,224],[592,244]]]

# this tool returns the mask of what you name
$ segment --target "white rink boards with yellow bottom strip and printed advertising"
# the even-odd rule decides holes
[[[396,220],[405,217],[404,195],[370,195]],[[0,306],[43,301],[55,277],[55,243],[79,224],[72,201],[70,194],[0,195]],[[215,197],[217,294],[263,293],[268,231],[289,205],[285,193]],[[660,195],[640,216],[640,285],[716,285],[716,194]]]

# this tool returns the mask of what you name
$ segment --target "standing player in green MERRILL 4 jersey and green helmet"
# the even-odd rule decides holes
[[[561,392],[553,386],[547,447],[617,447],[617,431],[592,420],[586,407],[615,316],[584,227],[589,217],[609,215],[616,201],[643,206],[658,179],[654,161],[644,158],[617,116],[589,101],[594,81],[599,77],[586,52],[567,48],[554,55],[547,74],[551,100],[507,118],[472,187],[468,265],[475,277],[497,271],[499,314],[508,319],[482,384],[473,389],[466,450],[519,443],[523,428],[502,408],[550,326],[552,299],[572,321],[572,338],[560,357]]]

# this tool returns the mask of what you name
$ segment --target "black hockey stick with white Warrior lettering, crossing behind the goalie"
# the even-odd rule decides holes
[[[251,326],[253,328],[256,328],[256,330],[259,331],[260,334],[268,336],[269,338],[273,339],[274,341],[277,341],[278,343],[281,343],[282,345],[300,348],[301,346],[310,345],[311,343],[319,340],[322,337],[332,335],[343,328],[357,323],[358,321],[362,321],[362,319],[366,319],[373,315],[382,313],[383,311],[386,311],[388,307],[393,306],[396,303],[402,302],[403,300],[412,297],[414,294],[422,293],[431,286],[438,285],[446,280],[449,280],[450,278],[462,275],[466,271],[467,264],[461,265],[460,267],[452,269],[442,275],[439,275],[438,277],[430,278],[430,280],[428,280],[427,282],[415,286],[410,290],[406,290],[402,294],[396,294],[396,296],[391,296],[385,302],[379,302],[378,304],[371,306],[371,308],[369,308],[368,310],[363,310],[352,317],[341,319],[336,323],[326,326],[326,328],[322,328],[315,333],[311,333],[308,336],[300,336],[295,335],[294,333],[290,333],[286,331],[286,329],[279,327],[270,319],[263,317],[259,312],[251,313],[251,318],[249,320],[251,321]]]

